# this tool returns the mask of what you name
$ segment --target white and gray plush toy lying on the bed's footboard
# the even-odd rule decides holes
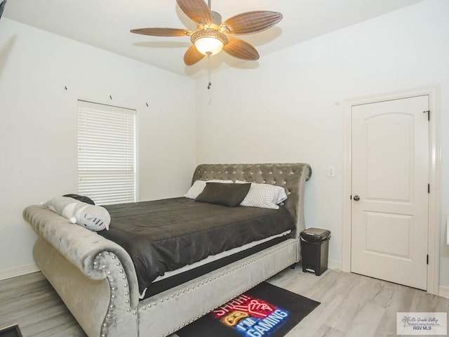
[[[68,219],[70,223],[76,223],[88,230],[109,230],[111,216],[102,206],[86,204],[70,197],[55,197],[42,206]]]

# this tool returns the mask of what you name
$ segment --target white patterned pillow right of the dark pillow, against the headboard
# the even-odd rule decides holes
[[[237,180],[236,183],[246,183]],[[250,190],[241,206],[261,207],[263,209],[279,209],[279,204],[287,199],[286,190],[282,186],[251,183]]]

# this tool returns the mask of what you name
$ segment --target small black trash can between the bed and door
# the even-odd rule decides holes
[[[321,228],[303,230],[301,237],[302,271],[319,276],[328,269],[330,231]]]

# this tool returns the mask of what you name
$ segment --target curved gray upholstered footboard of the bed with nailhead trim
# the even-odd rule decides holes
[[[24,218],[38,234],[34,260],[89,337],[138,336],[138,283],[121,246],[42,206]]]

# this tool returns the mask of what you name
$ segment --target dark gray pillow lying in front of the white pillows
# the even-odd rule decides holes
[[[206,183],[195,201],[235,207],[245,199],[250,187],[251,184]]]

